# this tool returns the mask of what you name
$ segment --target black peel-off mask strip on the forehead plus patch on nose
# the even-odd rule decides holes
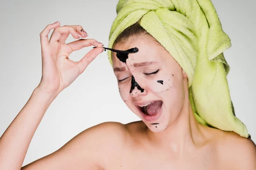
[[[93,47],[93,48],[96,48],[96,47]],[[103,48],[104,48],[104,51],[110,50],[110,51],[116,52],[116,57],[121,62],[123,62],[125,64],[126,64],[126,59],[128,59],[128,54],[130,54],[130,53],[137,53],[139,51],[139,49],[137,47],[128,49],[126,51],[116,50],[116,49],[106,48],[106,47],[103,47]],[[135,81],[134,76],[132,76],[131,77],[131,90],[130,90],[130,93],[134,90],[135,87],[137,87],[137,89],[139,91],[141,91],[141,93],[144,92],[144,89],[140,87],[140,85]]]

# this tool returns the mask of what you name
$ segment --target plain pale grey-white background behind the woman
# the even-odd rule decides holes
[[[40,32],[50,23],[81,25],[108,46],[118,0],[0,1],[0,136],[23,108],[41,79]],[[224,52],[236,116],[256,142],[256,1],[212,0],[232,47]],[[52,31],[50,32],[50,34]],[[50,35],[49,34],[49,35]],[[69,37],[67,42],[74,41]],[[92,47],[73,52],[78,61]],[[107,52],[100,54],[49,106],[23,165],[54,152],[81,131],[102,122],[140,120],[119,96]]]

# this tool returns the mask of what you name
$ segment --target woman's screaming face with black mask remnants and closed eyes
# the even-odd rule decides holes
[[[148,34],[129,37],[113,46],[122,51],[135,47],[139,51],[128,54],[126,63],[112,53],[119,92],[151,131],[160,132],[180,116],[187,77],[171,54]]]

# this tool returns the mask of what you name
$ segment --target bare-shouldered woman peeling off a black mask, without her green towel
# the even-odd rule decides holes
[[[41,32],[41,82],[0,138],[1,170],[256,169],[256,146],[250,139],[197,121],[188,74],[140,22],[115,39],[113,49],[122,52],[112,52],[111,60],[123,101],[142,121],[90,127],[54,153],[21,167],[49,105],[104,51],[93,39],[66,44],[69,34],[87,37],[81,26],[59,22]],[[96,48],[79,62],[68,58],[88,46]]]

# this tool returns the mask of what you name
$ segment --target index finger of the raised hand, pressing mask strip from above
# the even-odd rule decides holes
[[[74,42],[70,42],[67,45],[72,49],[72,51],[77,51],[77,50],[80,50],[81,48],[89,47],[91,45],[93,45],[95,47],[103,46],[103,44],[101,42],[98,42],[94,39],[86,39],[86,40],[80,39],[80,40],[77,40]]]

